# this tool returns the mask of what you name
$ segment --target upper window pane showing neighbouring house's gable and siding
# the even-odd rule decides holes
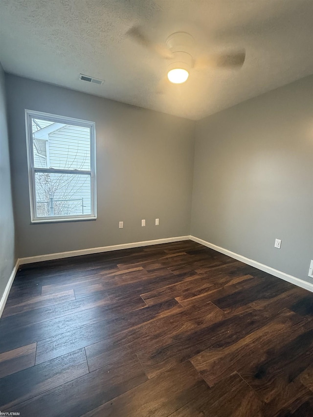
[[[35,168],[90,170],[90,129],[32,118]]]

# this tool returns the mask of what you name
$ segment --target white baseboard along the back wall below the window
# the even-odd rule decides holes
[[[100,246],[89,249],[71,250],[68,252],[49,253],[46,255],[29,256],[28,258],[20,258],[20,265],[25,263],[34,263],[42,261],[51,261],[53,259],[70,258],[72,256],[89,255],[93,253],[109,252],[110,250],[130,249],[133,247],[157,245],[161,243],[188,241],[190,236],[178,236],[176,238],[155,239],[153,241],[141,241],[132,243],[122,243],[119,245]]]

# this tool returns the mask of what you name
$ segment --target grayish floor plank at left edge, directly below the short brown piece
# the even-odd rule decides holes
[[[89,370],[85,350],[82,349],[1,378],[1,410],[6,410],[86,373],[89,373]]]

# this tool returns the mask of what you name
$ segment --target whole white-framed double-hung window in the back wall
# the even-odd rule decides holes
[[[25,110],[31,221],[96,219],[95,124]]]

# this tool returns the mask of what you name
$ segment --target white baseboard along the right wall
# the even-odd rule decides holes
[[[203,246],[207,246],[211,249],[216,250],[217,252],[224,253],[224,255],[230,256],[231,258],[246,263],[247,265],[254,266],[257,269],[261,269],[261,271],[268,272],[268,274],[274,275],[274,277],[281,278],[284,281],[288,281],[291,284],[300,286],[301,288],[313,292],[313,284],[311,283],[300,280],[299,278],[293,277],[292,275],[286,274],[285,272],[278,271],[277,269],[271,268],[270,266],[264,265],[263,263],[253,261],[253,259],[246,258],[245,256],[239,255],[238,253],[231,252],[230,250],[224,249],[221,246],[217,246],[213,243],[203,241],[202,239],[196,238],[195,236],[190,236],[190,239],[197,243],[201,243]]]

